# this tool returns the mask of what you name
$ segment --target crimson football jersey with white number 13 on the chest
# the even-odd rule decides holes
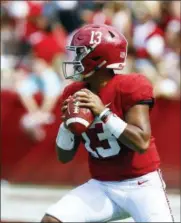
[[[67,86],[63,100],[85,87],[82,82]],[[153,89],[143,75],[115,75],[100,89],[98,95],[105,105],[109,104],[112,112],[124,120],[130,107],[153,100]],[[148,150],[139,154],[116,140],[98,118],[82,134],[82,141],[89,152],[90,173],[98,180],[119,181],[134,178],[152,172],[160,165],[153,137]]]

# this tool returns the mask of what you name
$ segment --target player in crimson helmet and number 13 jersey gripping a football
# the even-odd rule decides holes
[[[75,57],[63,63],[64,75],[76,81],[62,96],[57,154],[67,163],[83,142],[92,179],[52,205],[42,222],[107,222],[130,216],[136,222],[173,222],[151,135],[152,86],[143,75],[120,74],[127,56],[125,37],[111,26],[86,25],[67,49]],[[81,136],[64,122],[70,95],[95,115]]]

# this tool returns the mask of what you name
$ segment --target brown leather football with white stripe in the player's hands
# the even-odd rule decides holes
[[[65,120],[66,126],[72,133],[81,135],[92,124],[94,115],[89,108],[79,107],[71,97],[65,113]]]

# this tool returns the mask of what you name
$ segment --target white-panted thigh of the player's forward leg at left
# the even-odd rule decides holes
[[[62,222],[104,222],[114,219],[118,207],[96,180],[75,188],[46,212]]]

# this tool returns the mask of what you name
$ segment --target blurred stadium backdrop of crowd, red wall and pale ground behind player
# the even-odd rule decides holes
[[[54,149],[70,83],[61,61],[71,58],[65,46],[87,23],[117,27],[129,42],[123,74],[142,73],[154,86],[152,132],[180,221],[180,1],[1,1],[2,220],[39,221],[89,178],[83,148],[66,165]]]

